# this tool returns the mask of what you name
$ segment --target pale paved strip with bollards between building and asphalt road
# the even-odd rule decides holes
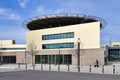
[[[97,74],[116,74],[120,75],[120,64],[114,64],[115,69],[113,65],[107,65],[104,66],[104,71],[103,67],[94,67],[91,66],[91,72],[90,72],[90,66],[81,66],[80,67],[80,73],[97,73]],[[35,70],[38,71],[58,71],[58,65],[51,65],[49,66],[48,64],[42,65],[41,64],[36,64],[35,65]],[[10,72],[10,71],[23,71],[23,70],[33,70],[33,66],[31,64],[27,64],[27,69],[26,65],[20,65],[18,67],[17,64],[5,64],[0,66],[0,72]],[[113,71],[114,70],[114,71]],[[61,72],[78,72],[78,68],[76,65],[70,65],[69,70],[67,65],[60,65],[60,71]]]

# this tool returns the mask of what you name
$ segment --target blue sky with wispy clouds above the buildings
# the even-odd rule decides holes
[[[26,43],[22,23],[31,17],[57,13],[93,15],[104,19],[106,27],[101,30],[101,44],[120,41],[119,0],[1,0],[0,39]]]

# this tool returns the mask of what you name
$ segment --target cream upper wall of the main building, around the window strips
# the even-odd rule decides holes
[[[74,32],[74,38],[42,40],[42,35],[67,32]],[[100,22],[28,31],[27,45],[34,41],[38,50],[42,50],[42,44],[74,42],[74,48],[77,48],[78,38],[81,40],[82,49],[100,48]]]

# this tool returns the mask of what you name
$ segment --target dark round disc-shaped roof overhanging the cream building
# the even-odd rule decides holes
[[[100,22],[100,28],[105,27],[105,21],[95,16],[86,16],[78,14],[60,14],[50,16],[38,16],[28,19],[24,22],[24,27],[29,30],[46,29],[67,25],[84,24],[91,22]]]

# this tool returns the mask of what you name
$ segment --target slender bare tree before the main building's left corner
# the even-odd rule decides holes
[[[29,43],[27,52],[32,56],[32,66],[35,67],[33,58],[38,53],[38,50],[37,50],[37,45],[35,44],[34,41],[31,41]]]

